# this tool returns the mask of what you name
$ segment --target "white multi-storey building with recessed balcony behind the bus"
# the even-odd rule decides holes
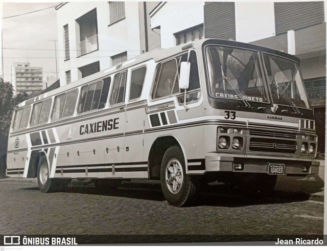
[[[60,85],[160,46],[148,13],[156,2],[61,3],[57,10]]]

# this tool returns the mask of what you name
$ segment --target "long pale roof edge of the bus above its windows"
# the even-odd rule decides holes
[[[139,63],[148,61],[153,59],[154,61],[160,61],[162,59],[168,58],[172,55],[176,55],[182,51],[186,51],[189,48],[201,48],[202,44],[210,44],[210,43],[214,43],[214,44],[221,44],[221,45],[228,45],[228,46],[233,46],[233,47],[241,47],[241,48],[248,48],[248,49],[252,49],[252,50],[258,50],[258,51],[263,51],[263,52],[267,52],[267,53],[271,53],[271,54],[275,54],[275,55],[279,55],[282,57],[286,57],[289,58],[291,60],[296,61],[297,63],[299,63],[299,59],[293,55],[281,52],[281,51],[276,51],[270,48],[266,48],[266,47],[262,47],[260,45],[255,45],[255,44],[250,44],[250,43],[243,43],[243,42],[237,42],[237,41],[232,41],[232,40],[222,40],[222,39],[200,39],[200,40],[196,40],[196,41],[190,41],[189,43],[184,43],[184,44],[180,44],[177,45],[175,47],[171,47],[168,49],[154,49],[153,51],[141,54],[139,56],[136,56],[135,58],[129,59],[119,65],[115,65],[112,67],[109,67],[108,69],[102,70],[98,73],[89,75],[85,78],[79,79],[77,81],[74,81],[70,84],[61,86],[57,89],[51,90],[48,93],[44,93],[41,94],[37,97],[28,99],[20,104],[18,104],[16,106],[16,108],[18,107],[22,107],[37,101],[40,101],[42,99],[48,98],[48,97],[52,97],[55,95],[58,95],[60,93],[64,93],[67,92],[70,89],[74,89],[77,88],[80,85],[89,83],[91,81],[96,81],[98,79],[102,79],[105,76],[109,76],[114,74],[115,72],[120,72],[122,70],[127,69],[130,66],[133,65],[137,65]]]

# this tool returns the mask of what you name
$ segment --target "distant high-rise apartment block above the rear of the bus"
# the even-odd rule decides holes
[[[42,90],[42,67],[30,66],[30,63],[18,62],[10,64],[11,83],[14,95],[21,92],[35,93]]]

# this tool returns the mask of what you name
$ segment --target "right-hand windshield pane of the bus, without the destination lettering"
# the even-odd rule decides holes
[[[263,55],[273,103],[309,108],[298,65],[282,57]]]

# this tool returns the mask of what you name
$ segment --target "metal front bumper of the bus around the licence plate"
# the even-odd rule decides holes
[[[205,172],[268,173],[269,164],[285,165],[285,174],[288,175],[318,174],[320,165],[317,161],[206,156]],[[241,166],[242,169],[237,169],[236,166]]]

